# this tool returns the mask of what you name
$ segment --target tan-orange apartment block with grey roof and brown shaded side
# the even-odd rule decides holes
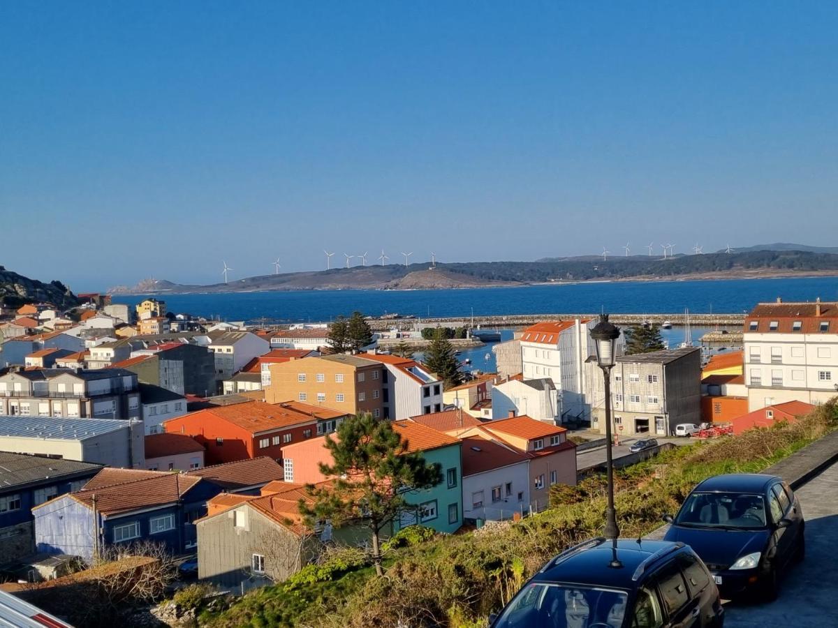
[[[269,368],[271,385],[265,389],[269,404],[303,401],[346,414],[382,416],[384,365],[379,362],[339,353]]]

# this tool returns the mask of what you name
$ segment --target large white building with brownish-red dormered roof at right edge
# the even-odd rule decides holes
[[[750,411],[823,403],[838,391],[838,303],[760,303],[743,342]]]

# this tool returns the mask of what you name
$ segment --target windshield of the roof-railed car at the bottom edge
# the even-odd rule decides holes
[[[613,589],[534,582],[510,602],[495,628],[619,628],[628,595]]]

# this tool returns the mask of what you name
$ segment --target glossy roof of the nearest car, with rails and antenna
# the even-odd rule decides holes
[[[533,582],[565,582],[613,589],[633,589],[633,576],[644,561],[654,557],[647,568],[651,569],[663,557],[656,553],[675,552],[684,548],[682,543],[650,541],[646,539],[620,539],[617,542],[617,559],[621,567],[610,567],[613,543],[605,538],[594,538],[560,553],[548,562]]]

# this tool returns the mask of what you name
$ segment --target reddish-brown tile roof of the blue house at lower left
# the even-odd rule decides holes
[[[93,479],[95,480],[96,477]],[[85,485],[84,490],[70,493],[70,497],[92,508],[95,496],[96,509],[104,515],[114,515],[138,508],[178,502],[183,498],[184,493],[199,481],[201,481],[199,477],[190,477],[183,473],[161,473],[111,486],[89,489]]]

